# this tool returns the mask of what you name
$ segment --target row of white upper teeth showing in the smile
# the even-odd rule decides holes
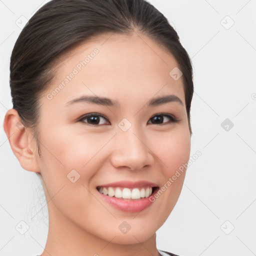
[[[152,187],[146,188],[127,188],[127,187],[99,187],[98,191],[108,196],[124,199],[139,199],[148,197],[152,193]]]

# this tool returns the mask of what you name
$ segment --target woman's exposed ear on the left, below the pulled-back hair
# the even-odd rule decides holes
[[[3,128],[7,135],[10,147],[23,169],[40,172],[36,158],[36,143],[32,143],[31,131],[24,127],[17,111],[9,109],[3,121]]]

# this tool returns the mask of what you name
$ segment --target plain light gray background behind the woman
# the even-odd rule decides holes
[[[9,58],[19,26],[45,2],[0,0],[0,255],[6,256],[39,254],[47,238],[39,179],[21,168],[2,127],[12,107]],[[191,155],[202,153],[157,231],[157,248],[182,256],[256,255],[256,0],[149,2],[174,25],[192,59]],[[226,118],[234,124],[229,130],[221,126]],[[29,225],[23,235],[15,229],[21,220]]]

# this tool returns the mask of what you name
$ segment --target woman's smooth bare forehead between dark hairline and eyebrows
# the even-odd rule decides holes
[[[157,93],[171,92],[184,102],[182,76],[174,80],[169,74],[177,67],[167,49],[141,33],[108,33],[81,42],[60,56],[46,93],[55,90],[51,102],[62,105],[81,93],[117,100],[135,96],[141,101],[141,95],[148,100]]]

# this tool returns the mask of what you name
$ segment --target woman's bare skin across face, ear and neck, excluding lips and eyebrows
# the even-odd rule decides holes
[[[51,93],[84,56],[99,52],[51,100]],[[61,57],[49,89],[40,98],[39,141],[41,158],[32,131],[17,127],[16,110],[9,109],[4,130],[20,165],[41,178],[49,215],[49,230],[42,256],[158,255],[156,230],[172,211],[181,191],[185,171],[146,209],[125,212],[102,200],[96,186],[119,180],[147,180],[161,187],[190,154],[190,132],[182,76],[169,72],[178,66],[165,48],[139,32],[101,35],[79,44]],[[79,102],[81,95],[105,96],[119,107]],[[172,101],[146,107],[153,97],[174,94]],[[89,124],[87,113],[99,113],[100,126]],[[158,113],[178,118],[163,124],[150,122]],[[118,123],[126,118],[131,127]],[[12,134],[12,135],[11,135]],[[10,136],[11,135],[11,136]],[[71,169],[80,177],[67,178]],[[118,226],[131,229],[123,234]],[[97,253],[97,254],[96,254]]]

